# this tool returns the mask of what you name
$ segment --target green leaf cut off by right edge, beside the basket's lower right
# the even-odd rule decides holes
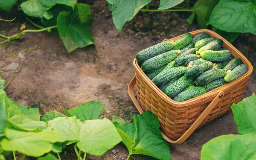
[[[234,119],[240,134],[256,133],[256,95],[232,105]]]

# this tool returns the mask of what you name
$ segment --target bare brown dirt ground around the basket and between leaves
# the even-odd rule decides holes
[[[199,29],[196,23],[188,25],[188,13],[139,13],[117,33],[108,6],[92,2],[95,17],[92,34],[96,47],[76,49],[70,54],[58,35],[47,32],[26,33],[17,41],[0,45],[0,68],[12,62],[21,64],[19,58],[3,59],[7,49],[18,53],[23,49],[38,47],[26,55],[23,67],[6,88],[7,95],[15,101],[38,108],[41,115],[55,109],[61,112],[81,103],[99,99],[111,111],[106,114],[120,116],[132,122],[139,114],[127,93],[128,83],[134,76],[133,60],[137,52],[157,44],[163,38]],[[6,15],[1,14],[4,18]],[[12,13],[14,22],[1,22],[0,32],[12,35],[18,32],[24,20]],[[27,24],[27,29],[35,29]],[[256,67],[256,36],[240,34],[233,42]],[[9,81],[15,70],[5,70],[0,76]],[[253,72],[243,98],[256,91],[256,72]],[[170,144],[172,160],[199,160],[201,147],[214,137],[223,134],[238,134],[233,115],[222,116],[195,131],[181,145]],[[120,143],[101,157],[87,156],[87,160],[126,160],[128,151]],[[18,159],[20,155],[17,155]],[[63,160],[75,160],[73,146],[61,153]],[[12,157],[9,157],[12,159]],[[26,158],[34,159],[34,158]],[[133,155],[130,160],[150,160],[150,157]]]

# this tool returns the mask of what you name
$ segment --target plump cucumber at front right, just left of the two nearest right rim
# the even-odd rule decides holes
[[[227,72],[222,69],[207,70],[206,72],[198,76],[197,79],[195,79],[195,84],[197,86],[204,86],[216,79],[223,78],[226,75],[227,75]]]

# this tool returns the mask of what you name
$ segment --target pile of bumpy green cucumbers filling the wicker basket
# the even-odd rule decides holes
[[[200,96],[247,72],[240,58],[222,48],[221,39],[203,32],[186,33],[176,41],[165,41],[136,55],[141,69],[167,96],[177,102]]]

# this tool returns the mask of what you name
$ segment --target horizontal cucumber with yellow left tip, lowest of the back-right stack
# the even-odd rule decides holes
[[[221,50],[221,51],[214,51],[214,50],[204,50],[200,52],[200,56],[208,61],[227,61],[231,57],[231,53],[229,50]]]

